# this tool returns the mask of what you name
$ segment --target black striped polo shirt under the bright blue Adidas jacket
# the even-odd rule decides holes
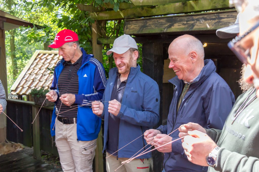
[[[57,81],[57,87],[59,88],[59,96],[61,96],[62,94],[78,94],[77,71],[82,65],[82,58],[83,58],[83,55],[73,64],[70,61],[67,61],[65,63],[64,69],[61,71],[59,75],[59,79]],[[56,105],[56,114],[59,111],[60,105],[61,105],[61,101],[59,100]],[[71,106],[75,106],[75,105],[77,104],[72,104]],[[76,107],[70,108],[70,106],[66,106],[62,103],[60,112],[64,112],[73,108],[76,108]],[[61,113],[59,116],[63,118],[76,118],[77,108]]]

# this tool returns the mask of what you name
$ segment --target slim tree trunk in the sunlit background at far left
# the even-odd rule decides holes
[[[11,60],[12,60],[12,68],[13,68],[13,78],[16,78],[18,71],[17,71],[17,59],[16,59],[16,52],[15,52],[15,33],[16,30],[13,29],[10,32],[10,50],[11,50]]]

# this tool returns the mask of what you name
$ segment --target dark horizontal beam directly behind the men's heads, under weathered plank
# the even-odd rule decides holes
[[[192,35],[192,33],[190,33]],[[154,35],[154,36],[137,36],[133,37],[135,39],[136,43],[171,43],[175,38],[177,38],[179,35],[182,35],[179,33],[178,35]],[[198,38],[202,43],[228,43],[232,40],[232,38],[229,39],[221,39],[217,37],[216,31],[214,34],[206,35],[206,31],[203,32],[203,35],[194,35],[196,38]],[[97,44],[113,44],[114,40],[116,38],[98,38]]]

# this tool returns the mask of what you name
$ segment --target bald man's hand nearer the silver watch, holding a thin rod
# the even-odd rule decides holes
[[[154,145],[155,148],[157,148],[159,146],[162,146],[162,145],[172,141],[172,137],[171,136],[167,136],[166,134],[157,134],[154,138],[155,139],[154,139],[154,142],[152,143],[152,145],[154,145],[156,143]],[[163,138],[163,140],[161,140],[162,138]],[[164,145],[161,148],[158,148],[157,150],[159,152],[172,152],[172,143]]]

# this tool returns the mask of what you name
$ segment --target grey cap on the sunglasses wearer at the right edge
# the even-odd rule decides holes
[[[216,35],[219,38],[232,38],[239,33],[239,14],[240,13],[238,13],[238,16],[236,17],[235,24],[228,27],[220,28],[216,31]]]

